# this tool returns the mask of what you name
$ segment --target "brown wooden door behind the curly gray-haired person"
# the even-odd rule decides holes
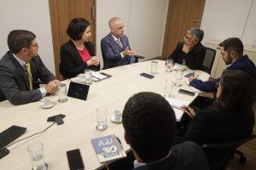
[[[201,26],[205,0],[170,0],[166,20],[166,32],[162,58],[166,59],[183,41],[186,31]]]

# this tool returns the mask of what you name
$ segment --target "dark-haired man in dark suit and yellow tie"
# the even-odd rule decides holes
[[[0,101],[23,105],[55,94],[58,80],[38,56],[38,43],[31,31],[14,30],[8,36],[9,51],[0,60]],[[39,88],[38,79],[46,83]]]

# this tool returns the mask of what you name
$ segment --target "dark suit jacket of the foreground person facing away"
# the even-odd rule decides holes
[[[147,164],[134,170],[207,170],[207,158],[201,147],[193,142],[184,142],[172,147],[171,155],[165,160]]]

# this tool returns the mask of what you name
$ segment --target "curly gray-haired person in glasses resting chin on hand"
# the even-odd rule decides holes
[[[187,31],[183,42],[177,43],[169,59],[174,63],[187,65],[192,70],[203,70],[203,60],[206,54],[206,48],[201,44],[204,37],[204,31],[199,28],[191,28]]]

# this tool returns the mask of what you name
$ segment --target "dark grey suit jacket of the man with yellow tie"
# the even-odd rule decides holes
[[[14,55],[7,52],[3,56],[0,60],[0,100],[9,99],[13,105],[23,105],[42,99],[40,90],[36,89],[39,87],[38,79],[48,83],[55,80],[55,76],[46,68],[39,56],[32,58],[30,65],[33,90],[29,89],[26,72]]]

